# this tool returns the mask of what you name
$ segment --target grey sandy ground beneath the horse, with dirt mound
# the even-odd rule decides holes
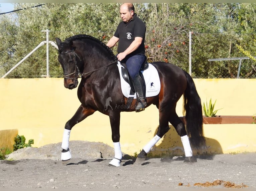
[[[0,161],[0,188],[256,188],[256,153],[148,158],[134,163],[124,154],[120,167],[109,166],[113,148],[70,141],[73,158],[60,161],[61,144],[19,149]]]

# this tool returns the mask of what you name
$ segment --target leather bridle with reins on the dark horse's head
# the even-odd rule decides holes
[[[78,56],[77,53],[75,53],[75,49],[74,49],[74,48],[71,49],[71,50],[69,50],[69,51],[67,51],[67,52],[63,52],[63,53],[59,53],[59,54],[62,54],[62,55],[63,55],[63,54],[70,53],[70,52],[73,52],[73,59],[75,60],[76,69],[75,69],[75,72],[72,72],[71,74],[65,75],[65,76],[63,76],[63,77],[64,77],[64,78],[67,78],[67,79],[75,80],[75,81],[78,81],[78,77],[79,77],[79,76],[80,76],[80,77],[85,76],[85,75],[87,75],[87,74],[90,74],[90,73],[92,73],[92,72],[95,72],[95,71],[97,71],[97,70],[100,70],[100,69],[102,69],[102,68],[104,68],[104,67],[108,67],[108,66],[110,66],[110,65],[112,65],[112,64],[114,64],[114,63],[116,63],[116,62],[118,62],[118,60],[116,60],[116,61],[114,61],[114,62],[112,62],[112,63],[110,63],[110,64],[108,64],[108,65],[106,65],[106,66],[103,66],[103,67],[101,67],[101,68],[95,69],[95,70],[93,70],[93,71],[91,71],[91,72],[81,73],[80,70],[79,70],[79,68],[78,68],[78,66],[77,66],[77,58],[76,58],[76,57],[78,57],[80,61],[82,61],[82,59]],[[76,71],[76,70],[77,70],[77,71]],[[69,77],[69,76],[71,76],[71,75],[73,75],[73,74],[77,74],[77,78],[71,78],[71,77]]]

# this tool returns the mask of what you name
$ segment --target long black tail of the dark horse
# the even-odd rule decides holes
[[[194,148],[199,149],[201,146],[205,146],[201,98],[198,95],[195,83],[191,76],[185,71],[184,74],[187,79],[183,105],[183,113],[186,113],[186,132],[191,145]]]

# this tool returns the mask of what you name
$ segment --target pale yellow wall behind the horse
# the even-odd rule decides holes
[[[254,115],[256,113],[256,79],[194,79],[202,104],[216,101],[218,115]],[[77,89],[68,90],[63,79],[0,79],[0,130],[18,129],[33,147],[62,141],[65,123],[80,105]],[[182,116],[182,102],[176,111]],[[158,127],[158,110],[150,105],[143,112],[121,113],[122,151],[133,155],[154,136]],[[182,152],[180,137],[170,131],[154,147],[154,154]],[[230,153],[256,151],[256,124],[204,125],[208,149],[200,152]],[[0,137],[2,140],[2,137]],[[103,142],[110,146],[111,128],[107,115],[95,112],[74,126],[70,140]],[[196,151],[194,151],[196,152]]]

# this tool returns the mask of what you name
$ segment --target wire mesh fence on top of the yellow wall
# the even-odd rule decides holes
[[[38,32],[39,33],[39,32]],[[42,36],[42,31],[40,31]],[[51,33],[51,32],[50,32]],[[49,33],[48,40],[55,41]],[[73,36],[74,33],[70,33]],[[104,43],[111,38],[108,32],[92,32],[88,35],[94,36]],[[170,39],[168,42],[160,42],[157,37],[152,41],[149,37],[145,39],[146,55],[149,62],[163,61],[181,67],[189,72],[191,67],[191,76],[193,78],[256,78],[256,62],[249,59],[240,50],[236,44],[241,44],[237,39],[230,38],[223,34],[209,33],[193,33],[191,42],[189,43],[188,34],[177,34],[175,40]],[[256,36],[248,34],[248,36]],[[44,37],[46,39],[46,37]],[[41,39],[45,42],[45,39]],[[62,39],[62,41],[65,39]],[[41,41],[41,42],[42,42]],[[31,56],[26,58],[20,65],[10,71],[17,63],[19,63],[26,55],[30,53],[40,41],[34,41],[29,44],[31,47],[26,50],[16,50],[12,56],[10,51],[2,52],[1,56],[7,59],[0,61],[0,77],[4,78],[43,78],[53,77],[61,78],[63,76],[62,68],[58,63],[58,52],[56,46],[49,44],[49,47],[42,46],[36,50]],[[47,43],[46,43],[47,44]],[[191,57],[189,58],[189,44],[191,44]],[[161,45],[159,47],[159,45]],[[0,45],[1,46],[1,45]],[[26,45],[25,45],[26,46]],[[21,52],[18,52],[21,51]],[[47,53],[48,51],[48,53]],[[116,53],[116,47],[113,52]],[[4,55],[8,54],[8,56]],[[47,58],[48,57],[48,58]],[[189,66],[189,59],[191,66]],[[6,76],[5,76],[6,75]]]

